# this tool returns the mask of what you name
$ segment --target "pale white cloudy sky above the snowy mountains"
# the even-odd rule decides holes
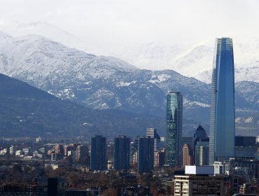
[[[259,34],[259,1],[0,0],[0,24],[48,22],[111,48],[149,41],[191,45]]]

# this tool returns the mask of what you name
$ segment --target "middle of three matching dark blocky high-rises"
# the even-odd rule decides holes
[[[114,169],[130,169],[130,138],[120,135],[113,141]]]

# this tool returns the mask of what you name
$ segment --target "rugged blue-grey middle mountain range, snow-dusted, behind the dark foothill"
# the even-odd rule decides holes
[[[177,91],[184,97],[186,132],[209,122],[209,84],[169,69],[139,69],[121,59],[68,48],[43,36],[1,33],[0,73],[90,109],[115,109],[158,119],[165,119],[166,94]],[[237,118],[259,113],[258,92],[259,83],[236,83]]]

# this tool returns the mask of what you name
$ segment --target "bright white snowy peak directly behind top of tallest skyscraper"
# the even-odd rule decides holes
[[[241,42],[243,41],[243,42]],[[248,80],[259,82],[259,38],[244,41],[233,38],[236,82]],[[214,43],[205,41],[194,46],[179,48],[163,43],[146,43],[132,48],[123,48],[115,54],[139,68],[172,69],[183,76],[211,83]],[[257,71],[257,72],[256,72]]]

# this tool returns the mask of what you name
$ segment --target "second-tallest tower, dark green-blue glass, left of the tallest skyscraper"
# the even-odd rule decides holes
[[[180,92],[167,94],[167,149],[166,164],[181,166],[181,138],[183,127],[183,96]]]

